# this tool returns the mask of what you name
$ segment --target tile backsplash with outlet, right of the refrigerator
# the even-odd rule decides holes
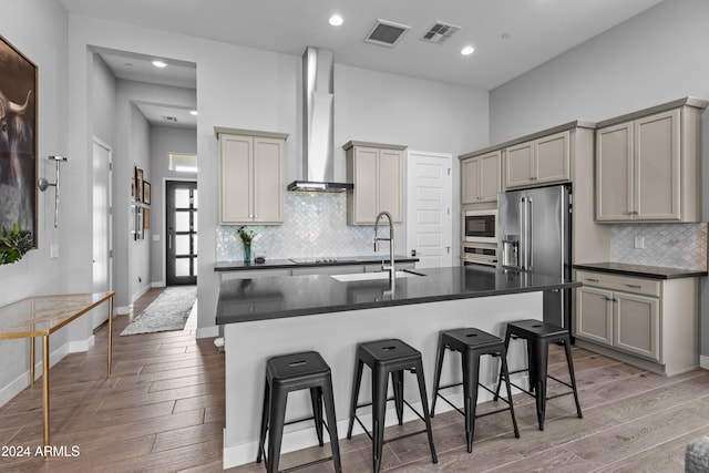
[[[635,248],[636,237],[643,237],[645,248]],[[614,225],[610,228],[610,260],[706,270],[707,223]]]

